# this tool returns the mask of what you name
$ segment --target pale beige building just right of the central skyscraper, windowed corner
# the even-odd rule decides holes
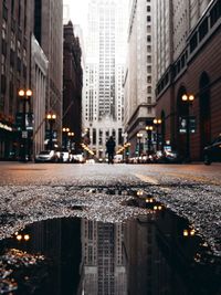
[[[130,156],[138,154],[138,140],[141,140],[141,152],[146,152],[145,128],[155,117],[152,2],[133,0],[129,6],[124,124],[127,140],[130,143]],[[138,133],[141,139],[137,138]]]

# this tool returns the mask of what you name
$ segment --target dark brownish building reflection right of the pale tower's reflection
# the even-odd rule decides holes
[[[157,294],[155,217],[155,213],[139,217],[137,221],[128,221],[124,228],[128,294],[131,295]]]

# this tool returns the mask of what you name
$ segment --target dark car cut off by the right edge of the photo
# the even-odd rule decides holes
[[[221,161],[221,134],[214,138],[211,145],[203,149],[204,165],[210,165],[213,161]]]

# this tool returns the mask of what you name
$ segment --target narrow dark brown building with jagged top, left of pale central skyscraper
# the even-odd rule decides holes
[[[82,87],[83,71],[81,65],[82,51],[78,38],[74,35],[73,24],[70,21],[64,24],[63,44],[63,128],[70,128],[74,133],[69,140],[63,140],[63,145],[69,143],[69,148],[76,152],[81,149],[82,140]],[[69,136],[63,134],[64,138]],[[71,143],[72,141],[72,143]],[[65,144],[64,144],[65,143]],[[75,144],[75,146],[71,144]]]

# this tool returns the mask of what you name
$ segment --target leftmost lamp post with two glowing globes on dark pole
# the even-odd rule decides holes
[[[19,97],[22,101],[22,131],[21,131],[21,143],[22,143],[22,155],[21,160],[27,161],[27,102],[30,101],[32,96],[31,89],[20,89]]]

